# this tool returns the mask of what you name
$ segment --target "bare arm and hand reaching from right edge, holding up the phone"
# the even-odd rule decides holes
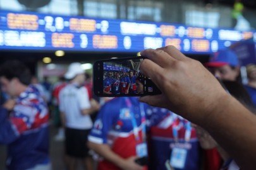
[[[200,62],[169,46],[144,50],[140,69],[162,94],[140,101],[174,111],[205,128],[241,169],[255,169],[256,116],[224,91]]]

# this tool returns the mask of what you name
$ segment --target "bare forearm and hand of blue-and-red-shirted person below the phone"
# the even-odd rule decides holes
[[[114,153],[107,144],[96,144],[94,142],[88,142],[88,147],[104,157],[104,159],[107,161],[113,162],[113,164],[121,169],[143,169],[142,166],[135,163],[135,159],[137,157],[129,157],[128,159],[123,159],[122,157],[118,156],[118,154]]]

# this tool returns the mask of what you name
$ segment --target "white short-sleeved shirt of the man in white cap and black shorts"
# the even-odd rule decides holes
[[[66,127],[80,130],[92,128],[89,115],[82,115],[81,110],[90,108],[87,89],[75,84],[68,84],[59,93],[59,110],[66,116]]]

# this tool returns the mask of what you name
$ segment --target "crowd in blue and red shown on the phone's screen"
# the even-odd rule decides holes
[[[138,94],[137,81],[142,79],[138,71],[104,71],[103,92],[105,94]]]

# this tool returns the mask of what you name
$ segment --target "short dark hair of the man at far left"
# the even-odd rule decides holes
[[[0,76],[6,77],[9,81],[18,78],[22,84],[31,83],[32,75],[28,67],[19,60],[8,60],[0,66]]]

